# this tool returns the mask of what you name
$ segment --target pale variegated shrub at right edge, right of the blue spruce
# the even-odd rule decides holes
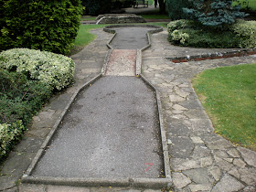
[[[256,21],[238,20],[230,27],[240,48],[256,48]]]

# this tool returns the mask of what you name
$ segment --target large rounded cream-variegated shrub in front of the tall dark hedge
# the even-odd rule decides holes
[[[73,79],[75,64],[66,56],[29,48],[13,48],[0,53],[0,69],[25,73],[52,89],[61,90]]]

